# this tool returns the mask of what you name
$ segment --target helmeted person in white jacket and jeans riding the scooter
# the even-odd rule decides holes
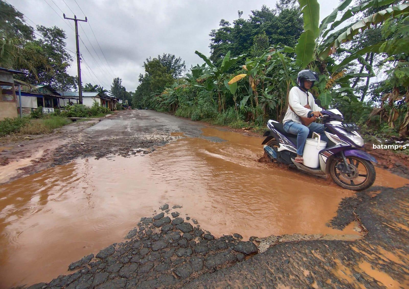
[[[318,81],[318,75],[312,70],[301,70],[297,76],[297,86],[290,90],[288,96],[288,108],[283,119],[283,129],[287,133],[297,135],[297,163],[303,162],[303,151],[308,135],[312,132],[319,133],[321,140],[328,142],[324,133],[324,125],[312,122],[308,126],[303,125],[301,117],[322,116],[322,108],[315,104],[312,93],[308,90]]]

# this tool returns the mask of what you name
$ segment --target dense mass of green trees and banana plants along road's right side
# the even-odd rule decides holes
[[[319,23],[316,0],[298,3],[263,6],[249,19],[239,11],[233,25],[221,20],[210,34],[210,57],[196,51],[205,63],[183,78],[171,81],[157,59],[145,63],[134,106],[220,125],[263,125],[283,118],[297,73],[311,69],[320,75],[312,93],[321,106],[339,102],[346,121],[406,136],[409,4],[344,0]],[[371,84],[375,70],[387,78]]]

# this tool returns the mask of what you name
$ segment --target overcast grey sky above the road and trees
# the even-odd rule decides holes
[[[209,33],[211,29],[218,28],[220,19],[231,23],[238,17],[238,10],[243,11],[242,17],[247,19],[251,10],[261,9],[263,4],[274,8],[276,3],[274,0],[76,0],[78,6],[75,0],[7,2],[27,16],[27,24],[33,27],[35,24],[46,27],[56,25],[65,30],[67,49],[72,51],[70,54],[74,58],[70,75],[77,73],[75,33],[72,30],[74,21],[64,21],[61,11],[71,18],[75,13],[81,19],[85,13],[89,23],[79,22],[79,35],[86,45],[80,41],[83,84],[102,84],[109,90],[113,77],[120,77],[128,91],[137,88],[138,76],[144,73],[142,65],[147,57],[171,53],[182,57],[188,67],[201,64],[203,61],[194,52],[198,50],[209,56]],[[336,0],[318,2],[321,5],[320,20],[338,5]]]

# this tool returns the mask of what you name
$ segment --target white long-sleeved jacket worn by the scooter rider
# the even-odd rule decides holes
[[[288,106],[283,123],[292,120],[293,122],[301,124],[299,116],[308,117],[308,114],[312,111],[322,111],[322,108],[315,104],[314,97],[310,92],[308,93],[308,104],[310,104],[311,109],[305,108],[304,106],[307,105],[307,93],[297,86],[291,88],[290,94],[288,95],[288,102],[295,113],[290,109],[290,106]]]

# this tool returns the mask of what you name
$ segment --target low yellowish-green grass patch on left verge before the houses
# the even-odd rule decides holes
[[[57,129],[70,123],[71,120],[59,116],[47,119],[31,119],[29,123],[20,129],[19,134],[35,135],[50,133],[53,129]]]

